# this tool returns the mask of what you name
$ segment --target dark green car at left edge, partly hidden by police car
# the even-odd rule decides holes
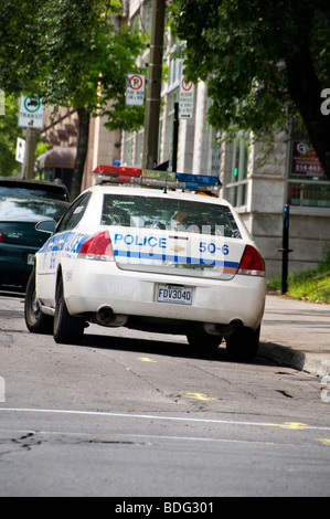
[[[0,187],[0,287],[25,289],[34,254],[49,235],[35,230],[40,221],[61,219],[70,206],[64,200],[23,195],[21,189],[2,194]]]

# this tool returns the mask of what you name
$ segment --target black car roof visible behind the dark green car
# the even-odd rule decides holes
[[[70,202],[63,183],[0,177],[0,197],[19,195],[62,200]]]

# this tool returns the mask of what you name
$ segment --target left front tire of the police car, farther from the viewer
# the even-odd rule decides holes
[[[53,331],[53,318],[42,314],[35,293],[35,269],[32,271],[29,278],[25,300],[24,318],[28,330],[32,333],[51,335]]]

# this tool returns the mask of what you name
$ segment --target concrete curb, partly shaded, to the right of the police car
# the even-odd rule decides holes
[[[274,342],[260,341],[258,353],[275,362],[317,377],[330,375],[330,360],[305,353]]]

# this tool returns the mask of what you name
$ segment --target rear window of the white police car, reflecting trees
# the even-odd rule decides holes
[[[102,225],[184,231],[241,239],[226,205],[157,197],[105,194]]]

